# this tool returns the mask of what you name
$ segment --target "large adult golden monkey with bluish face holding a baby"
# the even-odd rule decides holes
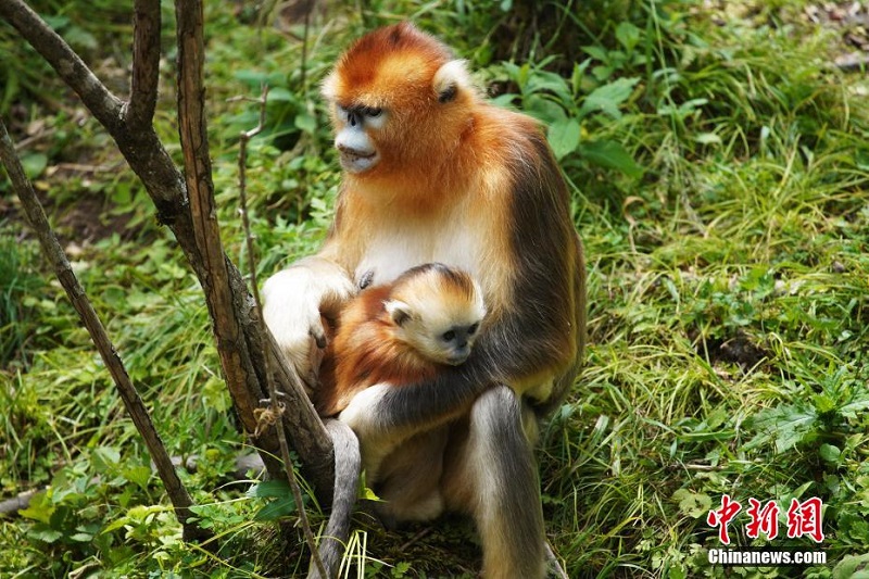
[[[339,419],[388,456],[368,482],[390,517],[468,513],[487,578],[541,577],[537,419],[574,383],[585,326],[582,249],[546,140],[531,118],[487,103],[464,62],[406,23],[354,43],[323,93],[344,169],[335,224],[316,255],[265,284],[265,320],[314,376],[320,313],[363,276],[387,284],[441,262],[477,279],[488,314],[474,355],[431,379],[366,388]]]

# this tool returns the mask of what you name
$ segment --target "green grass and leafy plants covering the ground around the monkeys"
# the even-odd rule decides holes
[[[316,83],[364,29],[413,16],[471,59],[499,102],[549,126],[571,185],[590,348],[539,452],[547,533],[568,574],[828,578],[865,566],[848,557],[869,551],[869,81],[832,65],[849,50],[845,24],[811,24],[805,0],[595,0],[572,12],[545,3],[512,37],[502,26],[528,20],[506,4],[330,8],[314,20],[304,86],[299,25],[281,33],[210,7],[210,130],[228,253],[245,266],[237,139],[257,113],[227,99],[273,87],[267,135],[249,154],[264,278],[314,251],[331,216],[338,172]],[[61,32],[98,39],[105,53],[85,43],[89,55],[123,78],[126,18],[79,22],[75,1],[58,5],[70,14]],[[278,528],[262,509],[291,505],[228,482],[243,441],[193,276],[129,175],[49,169],[118,158],[18,45],[0,26],[0,49],[20,54],[2,73],[15,80],[0,112],[14,113],[20,138],[35,119],[51,127],[24,156],[64,242],[81,243],[74,265],[171,452],[200,456],[185,481],[221,547],[180,541],[108,374],[34,240],[21,240],[15,203],[3,201],[0,493],[50,487],[0,520],[0,574],[299,572],[307,554],[294,518]],[[178,155],[172,68],[158,129]],[[99,213],[96,229],[74,214],[81,203]],[[791,498],[821,498],[829,564],[710,568],[704,550],[718,539],[706,515],[726,493],[783,509]],[[398,533],[357,523],[354,561],[367,576],[478,568],[466,521]],[[740,528],[744,512],[736,523],[740,544],[763,543]],[[815,549],[784,529],[782,517],[771,546]]]

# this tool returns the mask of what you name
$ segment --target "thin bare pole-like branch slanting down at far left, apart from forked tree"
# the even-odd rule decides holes
[[[142,399],[136,391],[136,387],[133,386],[127,369],[124,367],[114,345],[112,345],[105,332],[105,327],[93,311],[93,306],[85,293],[85,288],[81,287],[81,284],[73,272],[70,261],[66,259],[66,254],[58,242],[58,238],[54,237],[54,234],[51,231],[46,212],[36,198],[30,181],[24,174],[24,168],[15,154],[15,147],[7,133],[7,127],[2,119],[0,119],[0,160],[2,160],[9,178],[12,181],[12,186],[21,199],[27,218],[39,238],[42,252],[54,266],[58,279],[63,286],[63,289],[66,290],[70,301],[73,302],[73,306],[76,312],[78,312],[81,323],[85,325],[93,343],[97,345],[97,350],[99,350],[105,367],[112,375],[112,379],[121,394],[121,399],[124,401],[127,412],[136,425],[136,429],[144,439],[148,452],[151,454],[151,458],[156,465],[158,474],[163,480],[163,484],[166,487],[166,493],[175,507],[175,514],[184,527],[185,539],[207,539],[212,537],[210,531],[200,529],[190,520],[193,516],[190,512],[190,506],[193,505],[193,501],[181,483],[181,480],[178,478],[178,474],[175,471],[172,458],[166,452],[163,440],[154,428],[151,416],[148,414]]]

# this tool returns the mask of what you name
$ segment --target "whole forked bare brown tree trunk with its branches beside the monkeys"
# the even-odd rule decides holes
[[[186,2],[182,2],[186,3]],[[141,9],[139,14],[138,9]],[[159,15],[154,12],[153,0],[137,0],[137,52],[134,54],[135,90],[150,91],[154,86],[152,73],[159,64]],[[5,18],[18,30],[61,77],[81,98],[93,116],[109,130],[129,163],[141,179],[154,202],[158,218],[168,226],[188,263],[196,273],[206,295],[206,302],[215,328],[219,325],[218,350],[224,364],[230,394],[244,430],[256,431],[254,411],[259,401],[265,398],[265,349],[269,349],[276,364],[277,383],[284,388],[285,411],[282,426],[287,430],[292,448],[302,461],[305,479],[316,489],[324,503],[329,503],[335,473],[332,443],[323,421],[304,393],[300,378],[287,367],[279,350],[269,335],[259,329],[259,312],[248,292],[247,285],[228,257],[224,254],[214,215],[214,202],[198,198],[196,201],[197,222],[188,203],[188,187],[197,194],[212,190],[207,148],[205,143],[204,116],[202,103],[204,92],[201,79],[192,85],[179,73],[188,97],[185,106],[190,105],[188,131],[182,143],[186,162],[192,163],[188,171],[190,180],[178,171],[166,152],[153,125],[142,118],[150,113],[150,96],[133,96],[130,105],[138,113],[124,116],[126,105],[113,96],[88,70],[75,52],[22,0],[0,0],[0,17]],[[202,51],[201,9],[197,14],[185,16],[185,32],[178,33],[179,47],[187,50],[187,62],[192,66],[185,75],[201,78]],[[147,22],[146,22],[147,21]],[[199,40],[190,27],[199,27]],[[180,70],[186,65],[181,63]],[[180,102],[179,102],[180,103]],[[199,131],[201,129],[201,133]],[[192,131],[192,133],[191,133]],[[196,187],[194,187],[196,186]],[[214,268],[214,269],[212,269]],[[216,273],[215,273],[216,272]],[[221,288],[217,288],[221,286]],[[217,319],[219,319],[219,323]],[[272,456],[279,452],[276,431],[268,429],[254,443],[262,452],[263,462],[273,477],[281,476],[281,466]]]

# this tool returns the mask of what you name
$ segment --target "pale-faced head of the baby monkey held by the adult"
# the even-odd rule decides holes
[[[396,340],[429,361],[453,366],[470,355],[486,316],[477,281],[440,263],[399,276],[383,305]]]

